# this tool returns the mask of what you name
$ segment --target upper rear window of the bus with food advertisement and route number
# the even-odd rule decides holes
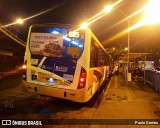
[[[79,59],[84,33],[62,27],[32,27],[29,39],[31,58],[35,56]]]

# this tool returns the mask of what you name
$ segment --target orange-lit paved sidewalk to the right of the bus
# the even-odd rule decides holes
[[[113,76],[95,119],[160,119],[160,95],[149,85]],[[99,114],[98,114],[99,113]]]

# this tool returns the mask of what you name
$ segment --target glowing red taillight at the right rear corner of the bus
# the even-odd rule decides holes
[[[86,70],[84,68],[81,68],[81,73],[80,73],[77,89],[84,88],[85,85],[86,85]]]

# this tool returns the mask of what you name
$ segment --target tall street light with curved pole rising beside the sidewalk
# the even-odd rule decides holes
[[[112,6],[106,6],[104,8],[104,11],[106,11],[107,13],[112,9]],[[128,35],[127,35],[127,44],[128,44],[128,52],[127,52],[127,82],[130,81],[129,80],[129,52],[130,52],[130,34],[129,34],[129,18],[127,16],[126,13],[124,13],[122,10],[120,9],[114,9],[114,10],[118,10],[119,12],[121,12],[127,19],[127,32],[128,32]]]

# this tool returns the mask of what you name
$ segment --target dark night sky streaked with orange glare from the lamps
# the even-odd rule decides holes
[[[26,19],[23,24],[7,27],[19,38],[26,41],[28,28],[32,24],[39,23],[63,23],[80,25],[83,21],[91,18],[108,4],[118,0],[1,0],[0,23],[7,25],[17,17]],[[127,29],[127,20],[119,23],[127,16],[142,8],[148,0],[123,0],[115,6],[115,10],[95,21],[89,27],[105,47],[127,47],[127,34],[107,42],[112,36]],[[48,10],[48,11],[47,11]],[[42,13],[43,12],[43,13]],[[45,12],[45,13],[44,13]],[[41,15],[39,15],[41,13]],[[134,25],[143,13],[129,19],[130,26]],[[149,52],[151,49],[160,49],[160,25],[142,26],[130,32],[130,51]],[[1,40],[4,37],[1,36]],[[106,43],[107,42],[107,43]],[[1,48],[1,47],[0,47]]]

